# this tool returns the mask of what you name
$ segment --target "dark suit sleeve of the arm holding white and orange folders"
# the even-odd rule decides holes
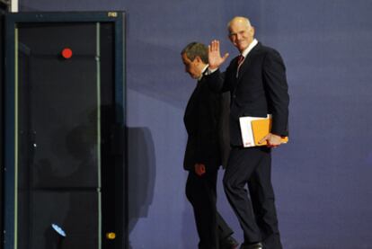
[[[276,50],[270,50],[263,62],[263,83],[272,114],[271,133],[288,136],[288,84],[286,67]]]

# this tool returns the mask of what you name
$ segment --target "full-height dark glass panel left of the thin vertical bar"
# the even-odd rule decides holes
[[[93,22],[18,25],[17,248],[99,248],[97,31]]]

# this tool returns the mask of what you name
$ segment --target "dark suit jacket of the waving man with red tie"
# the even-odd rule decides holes
[[[245,58],[236,77],[237,58],[226,69],[206,77],[214,91],[230,91],[230,141],[242,146],[239,117],[272,114],[271,133],[288,136],[288,84],[279,52],[259,42]]]

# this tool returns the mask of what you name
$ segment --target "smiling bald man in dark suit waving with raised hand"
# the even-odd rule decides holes
[[[241,248],[281,249],[274,191],[270,180],[270,150],[288,136],[288,84],[279,52],[254,39],[254,28],[244,17],[228,23],[229,39],[241,55],[234,58],[222,77],[219,41],[208,47],[208,85],[217,92],[229,91],[231,152],[224,175],[227,199],[244,231]],[[239,118],[272,114],[270,133],[261,139],[267,147],[244,148]],[[248,185],[251,200],[245,186]]]

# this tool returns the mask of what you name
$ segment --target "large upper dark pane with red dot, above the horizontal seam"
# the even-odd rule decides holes
[[[97,187],[95,24],[28,26],[19,27],[20,182]]]

